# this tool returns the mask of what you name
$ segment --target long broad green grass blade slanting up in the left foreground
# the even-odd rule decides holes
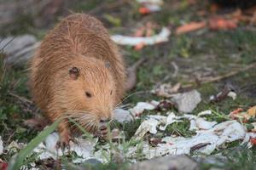
[[[54,132],[55,128],[58,126],[58,124],[60,122],[61,122],[61,119],[57,120],[56,122],[51,124],[49,127],[46,127],[44,129],[44,131],[39,133],[36,138],[32,139],[32,141],[30,143],[28,143],[25,148],[20,150],[18,155],[15,155],[12,158],[12,161],[10,161],[8,170],[20,169],[20,167],[23,165],[23,162],[24,162],[26,156],[28,156],[32,152],[32,150],[34,150],[34,148],[36,148],[38,146],[38,144],[40,144],[42,141],[44,141],[44,139],[46,139],[46,137],[50,133]]]

